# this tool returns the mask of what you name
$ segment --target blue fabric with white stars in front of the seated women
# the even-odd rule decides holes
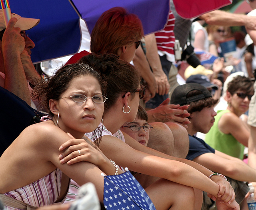
[[[104,176],[104,206],[107,210],[156,210],[128,169],[123,174]]]

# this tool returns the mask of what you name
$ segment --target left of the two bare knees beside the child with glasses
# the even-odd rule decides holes
[[[150,123],[153,126],[149,133],[148,147],[167,155],[172,155],[174,149],[174,137],[172,131],[165,123]]]

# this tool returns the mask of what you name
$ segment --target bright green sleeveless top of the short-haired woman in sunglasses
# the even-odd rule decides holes
[[[206,134],[205,142],[212,148],[222,153],[225,153],[232,157],[240,158],[242,160],[244,157],[244,145],[238,142],[231,134],[224,134],[218,129],[220,117],[228,112],[230,111],[217,111],[217,115],[215,116],[215,122],[210,131]]]

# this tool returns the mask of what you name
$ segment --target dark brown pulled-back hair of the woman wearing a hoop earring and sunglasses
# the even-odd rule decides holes
[[[106,97],[108,99],[104,103],[105,110],[116,103],[121,93],[135,93],[140,84],[140,73],[134,66],[114,54],[96,55],[92,53],[82,57],[80,63],[92,66],[106,81]]]

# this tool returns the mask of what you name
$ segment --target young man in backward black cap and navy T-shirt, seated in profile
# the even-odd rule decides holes
[[[227,176],[236,193],[236,202],[241,204],[249,188],[244,182],[256,182],[256,170],[238,158],[231,157],[214,150],[202,139],[197,138],[196,132],[208,133],[214,123],[214,105],[217,100],[212,98],[206,87],[197,83],[180,85],[174,90],[171,103],[189,105],[190,124],[188,124],[189,152],[186,157],[205,166],[212,171],[218,171]],[[246,202],[245,202],[246,203]],[[215,205],[204,193],[202,209]],[[214,208],[213,208],[214,209]]]

